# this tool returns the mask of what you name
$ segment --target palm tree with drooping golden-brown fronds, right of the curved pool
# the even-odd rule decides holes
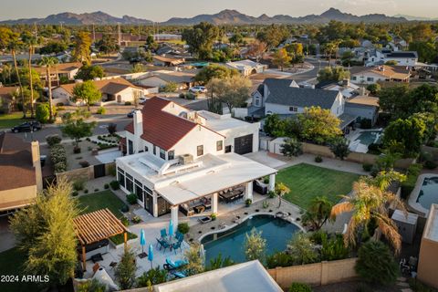
[[[344,200],[331,209],[331,215],[352,212],[347,231],[344,234],[345,245],[356,245],[360,235],[369,235],[368,226],[375,222],[382,235],[393,246],[396,253],[401,249],[401,235],[397,225],[391,220],[388,205],[406,212],[404,204],[394,194],[382,189],[378,180],[360,179],[353,184],[353,194],[343,196]]]

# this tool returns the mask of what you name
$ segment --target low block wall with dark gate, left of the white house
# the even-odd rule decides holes
[[[115,162],[102,163],[99,165],[89,165],[84,168],[78,168],[68,172],[57,173],[57,180],[61,177],[66,178],[68,182],[90,181],[110,174],[110,169],[116,167]]]

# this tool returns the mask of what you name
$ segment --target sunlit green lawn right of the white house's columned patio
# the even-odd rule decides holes
[[[353,182],[360,175],[329,170],[310,164],[297,164],[281,170],[277,183],[285,183],[290,189],[284,198],[302,208],[307,208],[313,198],[325,195],[332,203],[339,202],[339,194],[348,194]]]

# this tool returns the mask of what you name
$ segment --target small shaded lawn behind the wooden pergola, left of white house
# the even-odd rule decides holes
[[[123,203],[119,197],[110,190],[81,195],[78,197],[78,201],[79,208],[82,210],[81,214],[87,214],[96,210],[108,208],[112,214],[115,214],[118,218],[123,216],[120,209],[125,203]]]

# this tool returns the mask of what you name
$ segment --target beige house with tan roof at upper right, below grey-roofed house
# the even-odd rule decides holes
[[[379,81],[409,82],[411,78],[411,71],[400,66],[353,67],[349,72],[350,81],[354,84],[373,84]]]

